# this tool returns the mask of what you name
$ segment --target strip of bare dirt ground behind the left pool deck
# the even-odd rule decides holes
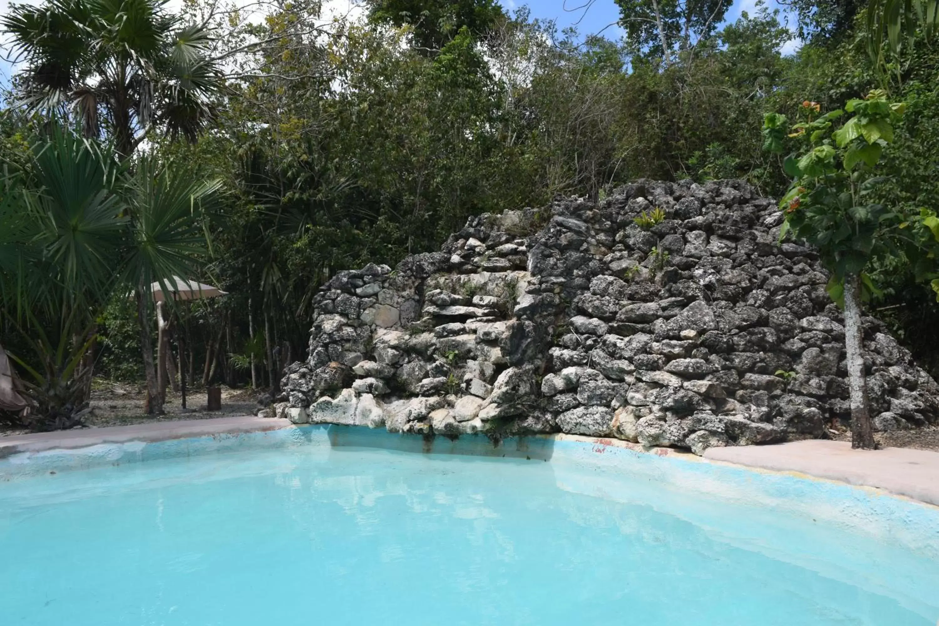
[[[85,417],[90,428],[100,426],[124,426],[147,421],[208,420],[235,415],[254,415],[259,406],[257,398],[264,392],[257,389],[228,389],[222,387],[222,410],[208,411],[205,389],[187,389],[186,406],[180,404],[180,395],[167,391],[162,416],[144,413],[146,393],[143,385],[116,383],[95,379],[91,389],[91,413]],[[0,436],[21,435],[29,431],[0,426]]]

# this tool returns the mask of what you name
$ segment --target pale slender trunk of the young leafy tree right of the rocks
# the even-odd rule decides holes
[[[861,352],[864,328],[861,326],[861,280],[856,274],[844,278],[844,347],[848,353],[848,389],[851,393],[851,447],[874,449],[870,422],[868,382]]]

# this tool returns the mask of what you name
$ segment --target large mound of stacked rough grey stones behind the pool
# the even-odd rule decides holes
[[[654,209],[664,219],[648,218]],[[639,218],[639,219],[638,219]],[[736,180],[482,215],[440,252],[341,271],[266,415],[394,433],[613,436],[696,453],[850,420],[841,313],[776,203]],[[939,387],[864,318],[875,428]]]

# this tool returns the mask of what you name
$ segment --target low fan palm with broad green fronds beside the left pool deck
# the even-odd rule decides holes
[[[149,408],[161,413],[151,284],[192,273],[206,250],[200,216],[218,185],[153,157],[134,162],[131,173],[110,145],[57,127],[34,155],[32,175],[0,184],[0,324],[25,348],[10,357],[25,374],[29,425],[81,420],[91,375],[85,355],[115,294],[137,299]]]

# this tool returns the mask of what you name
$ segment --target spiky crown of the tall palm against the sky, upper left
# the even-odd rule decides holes
[[[26,65],[23,104],[74,115],[85,137],[106,133],[122,160],[151,129],[194,140],[212,117],[223,74],[208,56],[208,30],[177,27],[164,7],[165,0],[12,5],[0,27]]]

